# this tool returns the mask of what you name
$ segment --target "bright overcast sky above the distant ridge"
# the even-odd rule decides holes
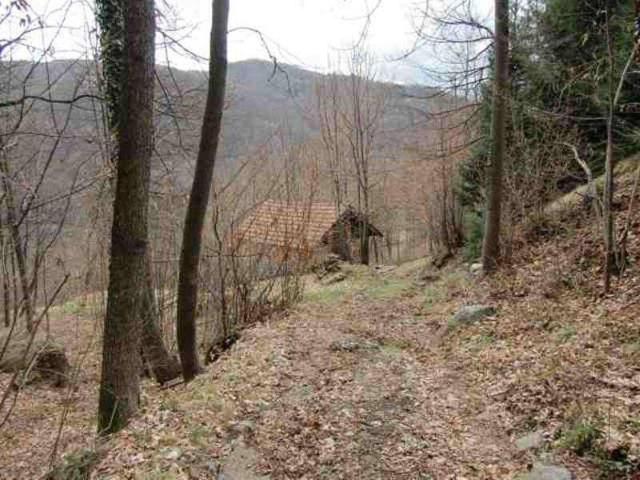
[[[65,18],[64,29],[49,28],[37,41],[45,45],[55,36],[54,57],[68,58],[86,54],[91,43],[93,1],[29,0],[35,14],[49,26],[57,26]],[[231,0],[230,29],[257,29],[264,35],[271,52],[283,63],[326,71],[335,68],[337,59],[346,55],[362,36],[367,25],[367,12],[376,5],[368,28],[367,48],[377,58],[379,76],[401,82],[423,81],[416,64],[429,61],[428,49],[409,61],[397,57],[415,42],[419,12],[427,0]],[[433,1],[433,0],[432,0]],[[446,0],[441,0],[446,1]],[[163,2],[171,8],[163,6]],[[476,0],[480,15],[491,13],[491,0]],[[161,25],[172,38],[179,39],[187,50],[208,55],[211,26],[210,0],[157,0],[163,11],[169,11]],[[171,10],[173,10],[171,12]],[[6,26],[2,26],[7,30]],[[7,38],[0,32],[0,39]],[[158,42],[162,37],[158,36]],[[16,53],[16,55],[24,55]],[[250,58],[267,59],[260,38],[251,32],[235,31],[229,37],[231,61]],[[166,63],[165,52],[158,51],[158,61]],[[184,51],[169,53],[169,61],[185,69],[205,69],[206,62],[190,57]]]

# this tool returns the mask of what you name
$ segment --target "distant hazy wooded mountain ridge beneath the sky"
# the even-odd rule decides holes
[[[33,138],[20,137],[25,139],[25,148],[19,149],[25,158],[38,150],[46,150],[50,137],[68,120],[51,167],[52,173],[60,177],[53,182],[56,188],[64,188],[72,181],[76,166],[85,170],[84,176],[104,168],[101,146],[105,136],[104,112],[97,98],[98,69],[99,65],[86,60],[0,64],[0,91],[5,92],[5,98],[19,99],[26,94],[64,101],[78,95],[96,96],[76,102],[70,114],[69,105],[64,103],[25,104],[29,109],[21,129],[38,132]],[[231,63],[221,160],[233,162],[238,157],[255,155],[278,135],[291,144],[317,139],[320,132],[314,113],[316,85],[323,77],[322,73],[292,65],[278,65],[274,70],[272,63],[262,60]],[[183,189],[192,177],[206,101],[207,74],[159,65],[156,83],[156,153],[160,161],[154,162],[155,168],[158,174],[171,172],[181,185],[179,189]],[[49,90],[48,84],[53,84]],[[436,90],[423,86],[385,85],[390,101],[383,119],[380,145],[384,155],[397,156],[407,142],[411,142],[411,135],[418,138],[423,134],[425,112],[441,108],[450,97],[439,98],[434,95]],[[36,138],[43,141],[38,143],[34,141]]]

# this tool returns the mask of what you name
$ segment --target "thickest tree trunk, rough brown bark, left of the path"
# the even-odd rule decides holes
[[[153,152],[154,0],[125,3],[125,64],[104,324],[98,431],[116,432],[137,412],[147,210]]]

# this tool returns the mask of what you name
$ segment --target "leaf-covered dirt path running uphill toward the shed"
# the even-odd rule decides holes
[[[499,412],[430,353],[415,294],[356,293],[253,329],[233,355],[271,368],[239,380],[240,427],[272,478],[509,478]],[[245,360],[241,360],[245,358]],[[241,365],[222,363],[218,378]],[[252,381],[253,378],[253,381]],[[256,400],[257,398],[257,400]],[[252,408],[255,404],[259,408]]]

